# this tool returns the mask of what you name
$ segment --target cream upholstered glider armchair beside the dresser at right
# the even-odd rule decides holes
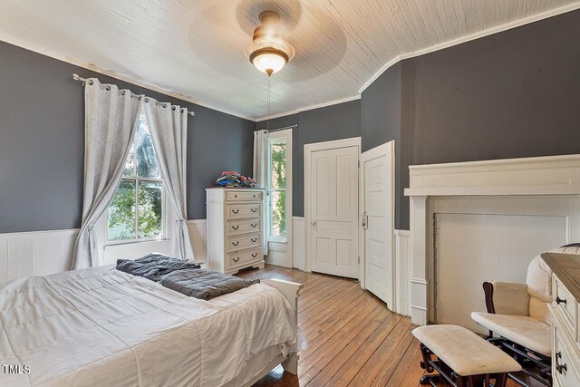
[[[580,254],[580,247],[568,245],[553,252]],[[539,382],[552,385],[552,316],[547,305],[551,271],[540,256],[527,267],[526,284],[489,281],[483,283],[488,313],[473,312],[471,318],[489,330],[487,340],[513,355],[524,372]],[[522,385],[525,381],[510,375]]]

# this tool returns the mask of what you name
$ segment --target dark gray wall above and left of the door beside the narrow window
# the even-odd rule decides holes
[[[292,133],[292,213],[295,217],[304,217],[304,144],[361,136],[361,101],[339,103],[277,118],[270,121],[270,129],[293,124],[298,127]],[[265,128],[266,121],[256,123],[256,129]]]

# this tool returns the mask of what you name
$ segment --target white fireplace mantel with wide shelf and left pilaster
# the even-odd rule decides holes
[[[430,200],[437,197],[580,195],[580,155],[472,161],[409,167],[411,321],[428,322]]]

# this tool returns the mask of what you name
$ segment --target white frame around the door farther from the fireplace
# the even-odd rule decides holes
[[[361,187],[361,138],[360,137],[353,137],[350,139],[343,139],[343,140],[331,140],[331,141],[324,141],[324,142],[314,142],[312,144],[304,144],[304,250],[306,252],[304,256],[304,266],[305,271],[311,271],[311,243],[310,237],[312,237],[312,227],[311,226],[311,218],[312,215],[310,213],[311,204],[310,204],[310,179],[312,179],[312,153],[318,150],[335,150],[340,148],[349,148],[349,147],[358,147],[358,156],[359,156],[359,165],[358,165],[358,182],[359,182],[359,192]],[[360,198],[359,198],[360,203]],[[357,218],[361,218],[361,208],[359,204],[359,208],[357,209]],[[360,224],[359,224],[360,227]],[[361,246],[360,240],[360,231],[356,233],[357,238],[359,238],[359,251]],[[358,253],[358,252],[357,252]],[[359,279],[361,278],[361,264],[359,262]]]

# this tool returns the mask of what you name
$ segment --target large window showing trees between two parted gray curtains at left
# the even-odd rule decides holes
[[[107,240],[163,237],[163,180],[149,127],[141,113],[121,184],[107,212]]]

